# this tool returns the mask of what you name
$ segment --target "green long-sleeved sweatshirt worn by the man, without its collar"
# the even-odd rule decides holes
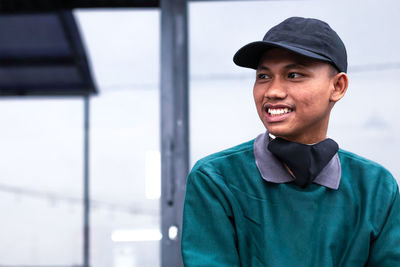
[[[186,267],[400,266],[400,199],[380,165],[339,150],[338,190],[263,180],[250,141],[208,156],[187,181]]]

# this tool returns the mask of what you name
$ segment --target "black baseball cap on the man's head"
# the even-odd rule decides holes
[[[324,21],[291,17],[272,27],[262,41],[249,43],[233,57],[236,65],[257,69],[261,56],[273,47],[331,63],[347,71],[346,47],[339,35]]]

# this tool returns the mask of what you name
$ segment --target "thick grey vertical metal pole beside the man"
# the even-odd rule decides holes
[[[187,2],[162,0],[160,4],[161,266],[180,267],[182,210],[189,170]]]

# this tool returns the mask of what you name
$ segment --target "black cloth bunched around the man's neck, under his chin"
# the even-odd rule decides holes
[[[329,163],[339,146],[330,138],[305,145],[277,137],[269,142],[268,149],[292,171],[294,183],[304,188]]]

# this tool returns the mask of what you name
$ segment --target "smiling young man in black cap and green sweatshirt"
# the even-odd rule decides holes
[[[292,17],[234,62],[256,69],[254,100],[267,132],[193,167],[185,266],[400,266],[395,179],[326,136],[348,86],[336,32]]]

